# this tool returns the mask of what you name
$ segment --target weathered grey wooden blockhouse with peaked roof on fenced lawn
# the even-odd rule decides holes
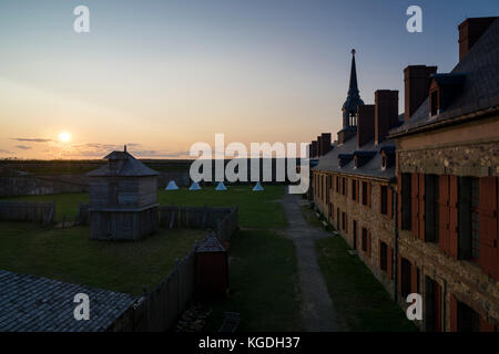
[[[90,238],[139,240],[157,228],[157,173],[132,155],[112,152],[90,178]]]

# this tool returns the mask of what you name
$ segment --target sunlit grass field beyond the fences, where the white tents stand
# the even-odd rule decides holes
[[[252,191],[251,186],[233,186],[226,191],[216,191],[214,187],[190,191],[180,190],[157,191],[157,202],[177,206],[223,206],[240,207],[240,227],[242,228],[282,228],[286,226],[283,207],[276,202],[284,194],[284,186],[265,186],[264,191]],[[45,196],[22,196],[3,198],[3,200],[23,201],[55,201],[55,220],[74,219],[79,202],[89,202],[88,194],[60,194]]]

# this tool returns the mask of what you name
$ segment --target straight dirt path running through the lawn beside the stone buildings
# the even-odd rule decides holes
[[[289,194],[282,199],[289,223],[285,233],[296,246],[304,326],[310,332],[346,331],[343,319],[334,310],[315,250],[315,240],[330,237],[330,233],[308,225],[301,210],[301,206],[306,202]]]

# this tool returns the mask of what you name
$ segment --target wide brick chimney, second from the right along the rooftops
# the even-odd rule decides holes
[[[409,65],[404,69],[405,122],[413,116],[426,97],[428,97],[429,76],[436,72],[437,66]]]

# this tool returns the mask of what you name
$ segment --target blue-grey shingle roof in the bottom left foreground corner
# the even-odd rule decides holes
[[[90,320],[77,321],[74,295],[90,298]],[[0,270],[0,332],[105,331],[135,298]]]

